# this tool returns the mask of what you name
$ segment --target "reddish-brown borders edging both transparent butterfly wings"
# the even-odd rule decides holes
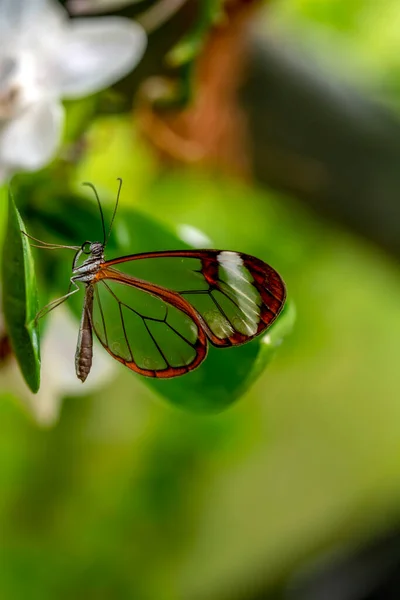
[[[220,348],[237,346],[252,340],[254,337],[257,337],[268,327],[270,327],[270,325],[272,325],[272,323],[278,317],[285,304],[285,284],[275,269],[262,260],[251,256],[250,254],[232,251],[242,259],[243,265],[253,277],[252,284],[260,294],[262,300],[262,305],[260,307],[260,322],[258,324],[257,331],[253,335],[249,336],[238,331],[234,331],[231,336],[222,339],[214,335],[199,312],[178,292],[174,292],[157,284],[132,277],[131,275],[121,273],[120,271],[112,268],[114,265],[123,264],[124,262],[149,258],[194,258],[201,260],[201,272],[210,288],[218,290],[220,289],[218,279],[218,268],[220,266],[218,263],[218,255],[221,254],[221,252],[227,251],[166,250],[161,252],[143,252],[140,254],[131,254],[104,262],[101,269],[96,274],[95,279],[93,280],[94,284],[102,279],[114,279],[122,284],[131,285],[148,292],[149,294],[160,298],[167,304],[171,304],[177,309],[181,310],[194,321],[198,329],[196,356],[189,365],[181,367],[168,367],[158,371],[142,369],[135,362],[128,362],[123,358],[113,354],[110,348],[102,342],[100,336],[96,333],[100,343],[107,350],[107,352],[109,352],[109,354],[111,354],[111,356],[113,356],[116,360],[123,363],[133,371],[140,373],[141,375],[145,375],[147,377],[170,378],[184,375],[185,373],[198,367],[203,362],[207,356],[207,338],[214,346]]]

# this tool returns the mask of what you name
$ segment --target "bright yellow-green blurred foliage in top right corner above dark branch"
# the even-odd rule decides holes
[[[280,0],[268,20],[303,50],[319,47],[317,60],[336,76],[398,106],[398,11],[396,0]]]

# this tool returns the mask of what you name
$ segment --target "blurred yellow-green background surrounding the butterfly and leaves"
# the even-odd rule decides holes
[[[335,77],[362,64],[354,77],[362,92],[398,107],[398,2],[275,0],[264,24],[265,35],[314,48]],[[196,227],[214,247],[273,265],[297,319],[271,364],[217,414],[174,406],[120,365],[90,393],[76,395],[60,375],[46,396],[54,366],[45,357],[35,398],[8,362],[0,373],[0,596],[246,600],[322,549],[395,523],[394,259],[294,197],[211,170],[160,169],[130,117],[98,118],[75,190],[92,181],[111,210],[117,177],[121,214],[138,209],[177,237],[183,225]],[[117,215],[117,236],[122,221]],[[69,268],[66,255],[65,287]],[[96,348],[94,360],[101,354]],[[65,360],[73,370],[73,355]]]

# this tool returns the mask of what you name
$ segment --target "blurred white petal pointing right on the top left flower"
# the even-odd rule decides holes
[[[128,19],[105,17],[72,21],[60,45],[61,95],[78,98],[115,83],[133,69],[145,48],[144,29]]]

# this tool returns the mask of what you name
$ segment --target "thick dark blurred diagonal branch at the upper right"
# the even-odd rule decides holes
[[[256,179],[400,257],[400,120],[296,48],[253,39],[240,100]]]

